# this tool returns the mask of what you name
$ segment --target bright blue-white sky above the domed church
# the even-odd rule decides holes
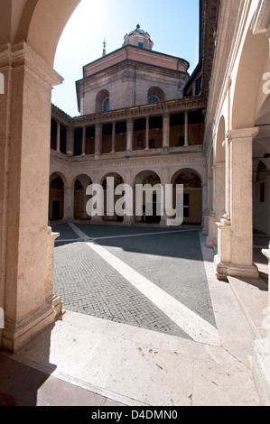
[[[79,115],[75,81],[82,67],[119,49],[136,24],[154,41],[154,51],[188,60],[189,72],[198,63],[199,0],[81,0],[62,32],[54,69],[64,78],[52,90],[51,101],[70,116]]]

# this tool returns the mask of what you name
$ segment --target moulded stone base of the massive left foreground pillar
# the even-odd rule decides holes
[[[53,325],[56,320],[61,319],[61,316],[61,299],[58,296],[53,296],[50,303],[45,302],[27,317],[16,322],[6,319],[5,329],[2,333],[1,348],[15,354],[29,343],[33,337]]]

